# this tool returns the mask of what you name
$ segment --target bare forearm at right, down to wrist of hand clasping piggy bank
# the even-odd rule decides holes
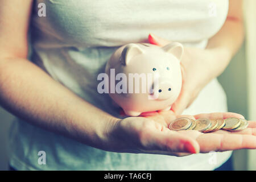
[[[215,60],[210,66],[216,69],[216,76],[224,71],[243,43],[245,34],[241,6],[242,1],[230,1],[229,15],[224,26],[209,39],[206,49],[214,54]]]

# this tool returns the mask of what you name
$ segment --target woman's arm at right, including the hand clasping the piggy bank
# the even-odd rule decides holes
[[[185,47],[181,59],[183,85],[177,101],[172,105],[176,114],[181,114],[192,104],[201,89],[210,80],[219,76],[243,42],[242,0],[229,1],[228,17],[221,30],[209,39],[206,49]],[[152,44],[164,46],[169,40],[150,35]]]

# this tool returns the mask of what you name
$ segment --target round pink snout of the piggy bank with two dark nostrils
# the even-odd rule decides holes
[[[167,100],[172,96],[172,86],[168,81],[161,81],[159,84],[154,84],[154,95],[156,100]]]

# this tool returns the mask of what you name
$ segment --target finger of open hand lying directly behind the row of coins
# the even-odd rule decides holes
[[[226,118],[245,118],[241,114],[237,113],[207,113],[207,114],[197,114],[194,115],[196,119],[198,118],[208,118],[208,119],[226,119]]]

